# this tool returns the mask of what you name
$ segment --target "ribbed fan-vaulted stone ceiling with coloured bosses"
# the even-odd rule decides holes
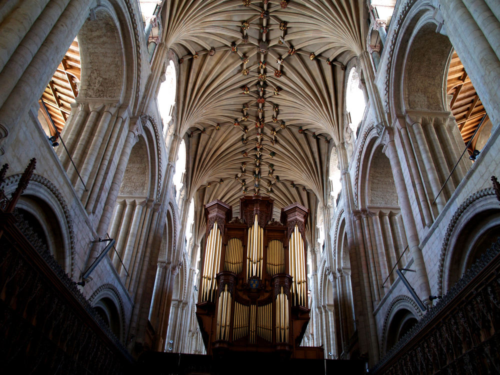
[[[188,198],[221,199],[236,216],[241,196],[269,195],[275,214],[299,201],[315,216],[327,197],[328,153],[343,133],[344,65],[364,49],[364,8],[356,0],[165,2],[162,38],[180,62],[176,126],[188,136]]]

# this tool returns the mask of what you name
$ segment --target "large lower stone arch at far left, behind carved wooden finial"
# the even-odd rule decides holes
[[[3,188],[7,196],[15,190],[20,176],[13,174],[5,179]],[[39,226],[38,231],[45,237],[47,250],[65,272],[74,275],[73,222],[66,201],[57,187],[45,177],[33,174],[16,208],[27,213],[25,219],[28,222]]]

